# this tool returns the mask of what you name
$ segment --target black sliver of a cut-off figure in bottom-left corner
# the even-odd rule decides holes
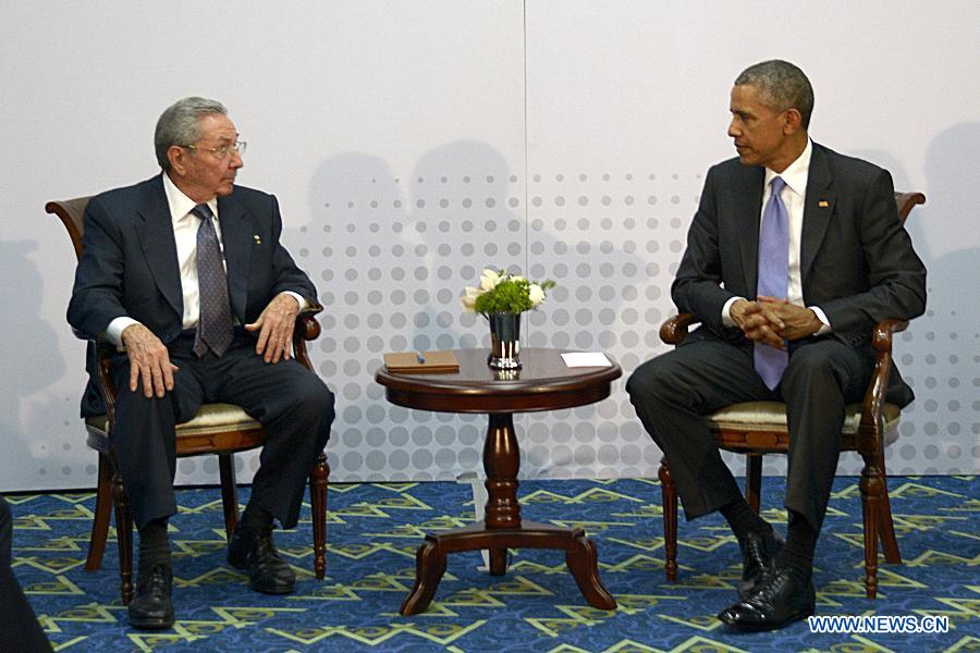
[[[0,496],[0,652],[50,651],[51,644],[14,577],[12,547],[13,515]]]

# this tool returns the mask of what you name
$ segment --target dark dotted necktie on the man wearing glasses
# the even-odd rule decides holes
[[[197,288],[200,316],[194,353],[204,356],[208,349],[220,357],[231,345],[233,332],[231,304],[228,298],[228,276],[221,259],[221,246],[211,221],[211,209],[200,204],[191,210],[200,218],[197,227]]]

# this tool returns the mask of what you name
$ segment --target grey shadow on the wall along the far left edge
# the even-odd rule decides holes
[[[54,454],[50,434],[39,432],[44,420],[34,417],[54,412],[42,408],[28,410],[23,399],[51,385],[65,369],[54,329],[38,315],[45,293],[44,278],[29,258],[38,246],[36,241],[0,242],[3,261],[0,306],[5,311],[4,332],[0,337],[0,360],[3,360],[0,442],[8,460],[25,464]]]

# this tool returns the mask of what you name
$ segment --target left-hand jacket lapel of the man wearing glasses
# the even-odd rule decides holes
[[[184,294],[181,289],[181,272],[176,258],[176,242],[173,238],[173,222],[170,205],[163,193],[163,180],[157,177],[149,185],[146,202],[139,210],[142,222],[136,226],[143,256],[160,293],[176,311],[179,319],[184,315]]]

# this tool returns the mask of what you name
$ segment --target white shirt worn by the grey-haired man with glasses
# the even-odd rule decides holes
[[[163,175],[163,193],[167,195],[167,204],[170,207],[170,220],[173,224],[173,239],[176,244],[177,268],[181,272],[181,292],[184,298],[184,315],[182,324],[184,331],[197,326],[200,317],[200,296],[197,283],[197,230],[200,226],[200,218],[191,212],[197,206],[193,199],[184,195],[170,180],[166,172]],[[221,222],[218,220],[218,198],[207,202],[211,209],[211,221],[215,232],[218,234],[218,245],[221,247],[221,262],[228,270],[224,260],[224,244],[221,241]],[[307,306],[306,299],[298,293],[286,291],[299,303],[299,310]],[[237,320],[236,320],[237,321]],[[106,328],[106,337],[117,346],[122,345],[122,332],[131,324],[138,322],[130,317],[115,318]]]

